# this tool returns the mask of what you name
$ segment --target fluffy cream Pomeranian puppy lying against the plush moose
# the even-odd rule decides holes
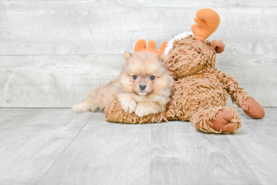
[[[112,100],[118,100],[125,112],[135,112],[139,117],[165,111],[174,83],[164,66],[167,55],[125,51],[123,56],[126,64],[119,78],[93,90],[87,99],[73,106],[74,112],[104,109]]]

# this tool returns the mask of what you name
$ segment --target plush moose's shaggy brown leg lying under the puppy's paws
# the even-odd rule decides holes
[[[108,121],[121,122],[122,124],[146,124],[150,122],[163,122],[167,121],[168,112],[160,114],[149,114],[147,116],[138,117],[134,112],[126,113],[122,110],[120,103],[117,100],[111,101],[106,109],[105,114]]]

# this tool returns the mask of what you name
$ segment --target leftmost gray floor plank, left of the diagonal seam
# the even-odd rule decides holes
[[[35,184],[93,114],[70,109],[1,108],[1,184]]]

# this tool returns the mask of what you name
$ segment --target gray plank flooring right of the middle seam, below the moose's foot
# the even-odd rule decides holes
[[[231,135],[197,132],[189,122],[153,125],[151,184],[277,183],[277,108],[265,112],[240,114],[243,129]]]

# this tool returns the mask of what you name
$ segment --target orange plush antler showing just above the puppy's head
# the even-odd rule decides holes
[[[141,39],[136,42],[136,44],[134,46],[134,51],[153,51],[158,54],[164,54],[167,43],[168,42],[163,42],[161,44],[160,50],[158,50],[156,47],[156,42],[154,40],[150,40],[148,42],[148,46],[146,47],[146,41],[144,39]]]

